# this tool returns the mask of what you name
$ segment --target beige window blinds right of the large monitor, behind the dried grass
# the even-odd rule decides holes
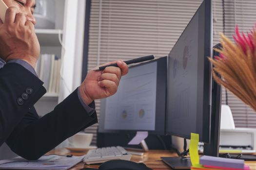
[[[224,0],[224,23],[222,25],[224,26],[224,33],[232,38],[236,25],[239,26],[240,31],[250,31],[256,23],[255,9],[256,0]],[[227,96],[236,127],[256,128],[256,113],[232,93],[228,92]],[[224,89],[222,91],[222,103],[226,103]]]

